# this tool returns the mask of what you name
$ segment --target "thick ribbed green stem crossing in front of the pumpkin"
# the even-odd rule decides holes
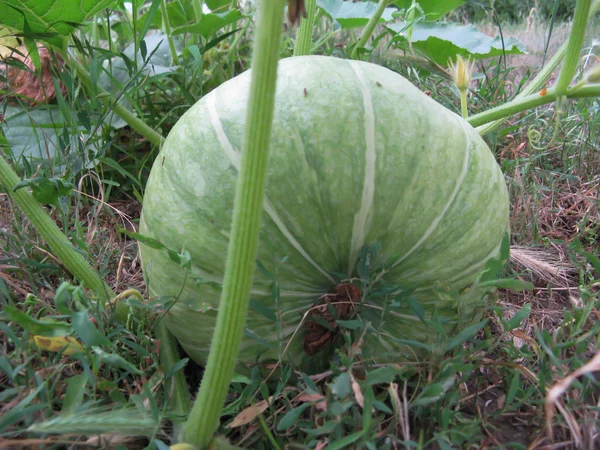
[[[200,448],[209,444],[218,427],[244,334],[263,211],[284,6],[282,0],[262,0],[258,5],[250,98],[223,290],[206,371],[183,430],[184,441]]]

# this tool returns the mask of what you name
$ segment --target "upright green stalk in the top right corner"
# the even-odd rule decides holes
[[[591,0],[577,0],[577,4],[575,5],[575,15],[573,17],[571,34],[569,35],[569,44],[567,46],[565,61],[555,85],[556,92],[559,95],[563,95],[567,92],[571,81],[573,81],[575,72],[577,71],[579,55],[581,54],[581,47],[583,46],[583,40],[585,39],[585,31],[591,5]]]

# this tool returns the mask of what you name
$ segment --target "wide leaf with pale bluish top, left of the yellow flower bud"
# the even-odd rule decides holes
[[[394,41],[406,45],[406,23],[386,25],[396,36]],[[491,38],[471,25],[453,23],[417,23],[412,28],[412,47],[426,54],[433,61],[446,65],[456,55],[483,59],[492,56],[519,55],[526,53],[525,47],[513,38]]]

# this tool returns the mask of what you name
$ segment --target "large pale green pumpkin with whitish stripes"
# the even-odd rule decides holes
[[[145,192],[140,232],[187,250],[194,275],[140,243],[149,293],[177,298],[164,320],[200,364],[221,294],[249,87],[250,71],[182,116]],[[257,268],[251,300],[280,328],[251,307],[242,364],[276,359],[278,346],[301,362],[303,315],[335,287],[332,274],[357,276],[366,244],[393,258],[380,284],[414,290],[425,317],[435,309],[449,333],[480,317],[488,291],[457,298],[440,288],[469,286],[498,255],[509,228],[506,184],[478,133],[402,76],[326,56],[281,60],[265,195],[257,259],[280,298],[276,306],[273,280]],[[419,347],[407,341],[432,340],[406,299],[383,315],[383,297],[364,302],[360,319],[381,333],[367,333],[363,357],[411,357]]]

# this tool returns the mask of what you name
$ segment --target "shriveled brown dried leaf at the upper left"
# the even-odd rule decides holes
[[[20,61],[27,69],[10,65],[10,63],[3,64],[4,67],[0,69],[6,78],[6,85],[0,84],[0,88],[8,91],[6,97],[25,99],[30,106],[51,103],[56,99],[53,71],[61,70],[64,65],[58,55],[50,54],[48,49],[41,44],[37,44],[37,47],[40,55],[40,73],[37,72],[25,47],[17,48],[7,58]],[[59,84],[62,94],[65,95],[67,92],[65,85],[62,82]]]

